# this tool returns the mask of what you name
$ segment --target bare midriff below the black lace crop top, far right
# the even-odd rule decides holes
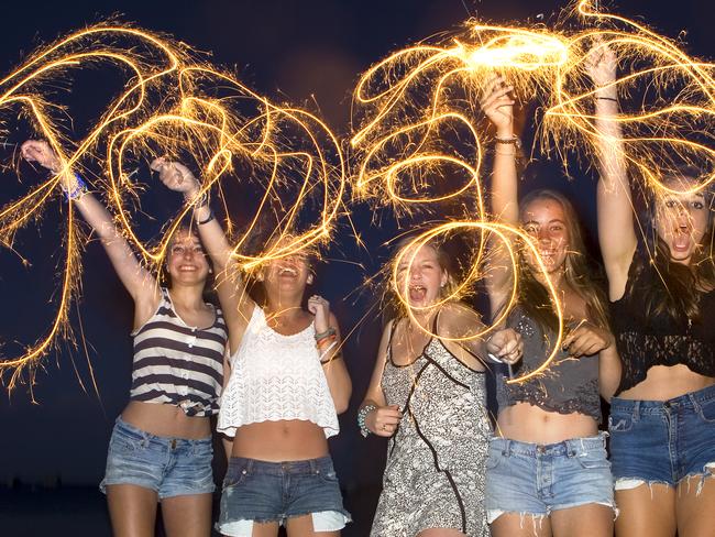
[[[688,365],[653,365],[646,380],[618,394],[622,399],[668,401],[715,384],[712,376],[698,375]]]

